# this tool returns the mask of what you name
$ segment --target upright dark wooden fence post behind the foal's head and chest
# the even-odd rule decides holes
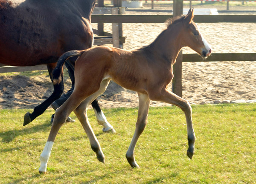
[[[183,14],[183,0],[173,1],[173,16]],[[172,92],[182,97],[182,50],[173,65]]]

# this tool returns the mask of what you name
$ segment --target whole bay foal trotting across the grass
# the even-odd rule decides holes
[[[167,29],[151,45],[138,50],[125,51],[99,46],[84,51],[69,51],[60,57],[53,72],[55,83],[61,80],[65,60],[72,56],[80,56],[75,65],[75,89],[70,98],[56,110],[47,143],[40,157],[40,173],[46,172],[47,161],[58,130],[73,110],[87,133],[97,159],[105,162],[99,142],[88,122],[87,108],[105,91],[111,79],[124,88],[137,91],[139,95],[136,129],[126,153],[131,167],[139,167],[134,158],[134,148],[147,124],[150,100],[170,103],[184,111],[189,142],[187,156],[192,159],[195,144],[192,108],[187,100],[169,91],[167,85],[173,78],[172,66],[181,48],[189,46],[202,57],[207,57],[211,53],[211,48],[192,21],[193,17],[194,10],[190,9],[186,16],[170,19]]]

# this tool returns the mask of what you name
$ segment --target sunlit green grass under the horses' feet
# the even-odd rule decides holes
[[[256,182],[256,104],[197,105],[193,108],[195,155],[186,156],[186,123],[176,107],[150,108],[148,125],[135,148],[140,169],[125,159],[137,108],[104,109],[116,134],[102,133],[93,110],[90,124],[105,154],[96,159],[81,124],[61,127],[40,175],[39,156],[49,135],[52,110],[26,127],[32,110],[0,110],[0,183],[22,184],[253,184]],[[71,114],[71,117],[75,117]]]

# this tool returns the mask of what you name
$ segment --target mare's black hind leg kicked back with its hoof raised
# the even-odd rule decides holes
[[[50,77],[52,76],[52,70],[55,68],[55,66],[56,66],[56,63],[47,64],[47,69],[48,69]],[[52,77],[51,77],[51,79],[52,79]],[[36,106],[32,113],[26,113],[25,114],[23,126],[29,124],[37,116],[40,116],[42,113],[44,113],[44,111],[49,107],[49,105],[51,105],[52,102],[54,102],[56,99],[58,99],[61,96],[61,94],[64,91],[64,82],[63,82],[63,80],[59,84],[53,85],[53,87],[54,87],[54,91],[51,94],[51,96],[49,96],[48,99],[46,99],[40,105]]]

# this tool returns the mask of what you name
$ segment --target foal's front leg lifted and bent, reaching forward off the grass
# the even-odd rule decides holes
[[[154,95],[153,99],[176,105],[185,113],[188,142],[189,142],[189,149],[187,150],[187,156],[190,159],[192,159],[192,156],[194,154],[195,133],[192,125],[192,108],[189,102],[181,98],[180,96],[177,96],[175,93],[170,92],[168,89],[163,89],[160,94]]]

